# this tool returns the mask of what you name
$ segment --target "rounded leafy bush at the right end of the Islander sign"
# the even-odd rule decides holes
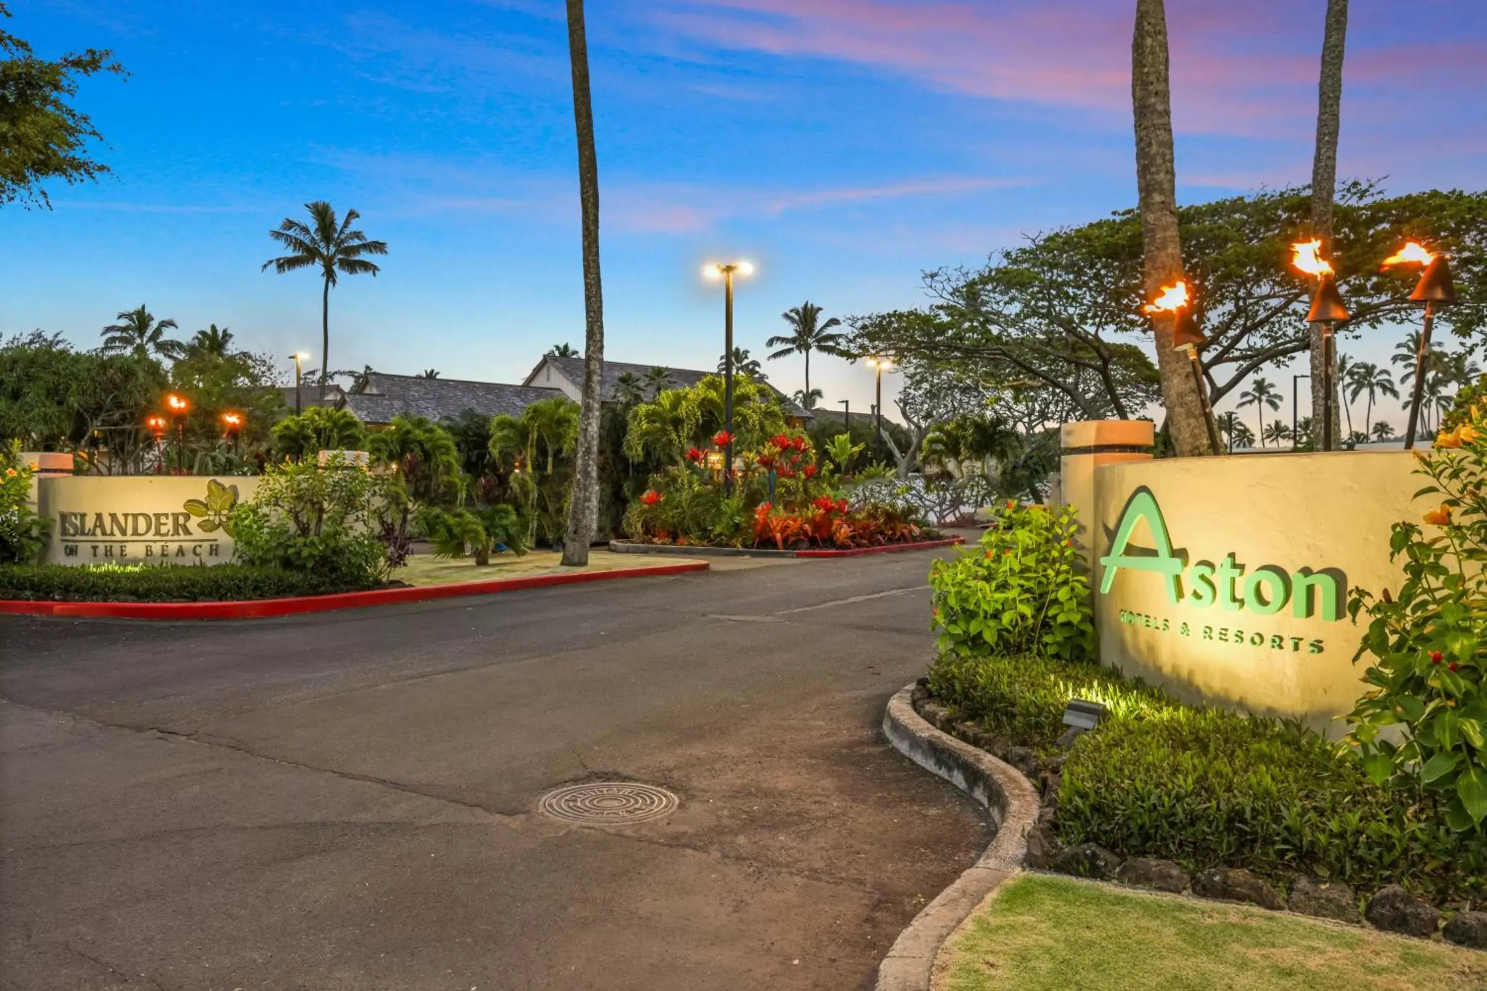
[[[230,516],[236,560],[314,572],[329,582],[375,585],[391,571],[382,517],[400,493],[384,478],[332,456],[269,467],[251,502]]]

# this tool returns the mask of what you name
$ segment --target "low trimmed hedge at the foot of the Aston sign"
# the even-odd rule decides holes
[[[1071,697],[1109,707],[1060,770],[1066,845],[1193,872],[1248,868],[1282,887],[1309,874],[1364,893],[1405,884],[1436,905],[1487,894],[1487,838],[1422,817],[1370,782],[1346,744],[1300,724],[1185,706],[1111,669],[1039,657],[944,655],[929,688],[958,716],[1044,753]]]

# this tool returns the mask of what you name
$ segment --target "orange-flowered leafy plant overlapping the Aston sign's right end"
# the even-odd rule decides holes
[[[1355,588],[1349,612],[1368,615],[1358,658],[1370,657],[1368,692],[1349,740],[1378,784],[1411,795],[1457,832],[1487,820],[1487,423],[1471,406],[1435,450],[1419,453],[1416,492],[1430,508],[1393,524],[1390,560],[1404,562],[1398,593]],[[1386,730],[1392,728],[1392,730]]]

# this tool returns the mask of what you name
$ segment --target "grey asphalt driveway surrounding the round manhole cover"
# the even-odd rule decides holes
[[[868,988],[989,838],[877,734],[929,560],[0,617],[0,988]],[[681,807],[537,813],[589,779]]]

